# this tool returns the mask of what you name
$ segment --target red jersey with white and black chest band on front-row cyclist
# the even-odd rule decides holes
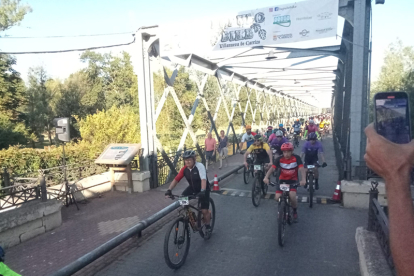
[[[298,155],[292,154],[289,159],[284,156],[278,157],[273,163],[273,168],[280,168],[279,182],[293,184],[298,181],[299,168],[303,168],[303,163]]]

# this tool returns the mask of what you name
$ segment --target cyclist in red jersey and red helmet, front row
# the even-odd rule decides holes
[[[289,197],[291,205],[293,208],[293,220],[297,222],[298,220],[298,201],[296,199],[296,189],[292,187],[293,184],[296,184],[299,179],[299,171],[301,174],[300,186],[306,184],[306,173],[303,168],[302,159],[296,154],[293,154],[293,144],[288,142],[282,145],[283,156],[278,157],[274,162],[273,166],[267,172],[263,182],[269,184],[269,177],[272,175],[273,171],[280,168],[279,183],[286,183],[291,185],[289,191]],[[282,190],[280,186],[276,190],[276,200],[282,196]]]

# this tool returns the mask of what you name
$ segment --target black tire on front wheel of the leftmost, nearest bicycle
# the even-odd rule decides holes
[[[182,223],[182,225],[184,227],[183,237],[184,237],[184,242],[186,240],[187,244],[185,245],[184,253],[183,253],[182,258],[180,259],[180,261],[177,262],[177,263],[174,263],[170,259],[170,255],[169,255],[169,252],[168,252],[168,247],[169,247],[169,241],[170,241],[171,233],[175,232],[176,234],[178,234],[177,232],[179,232],[178,229],[179,229],[179,226],[180,226],[180,222]],[[176,243],[176,242],[177,241],[174,241],[174,243]],[[188,251],[190,249],[190,243],[191,243],[191,238],[190,238],[190,231],[188,229],[188,222],[183,217],[179,217],[174,221],[174,223],[171,224],[170,228],[168,229],[167,233],[165,234],[165,239],[164,239],[164,259],[165,259],[165,262],[167,263],[167,265],[171,269],[178,269],[185,263],[185,260],[187,259]],[[177,256],[177,255],[178,255],[178,252],[175,253],[175,256]]]

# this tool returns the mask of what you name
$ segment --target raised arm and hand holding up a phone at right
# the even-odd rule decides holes
[[[410,172],[414,166],[414,140],[394,144],[377,134],[373,124],[365,129],[367,165],[385,181],[390,225],[390,247],[397,274],[413,275],[414,207]]]

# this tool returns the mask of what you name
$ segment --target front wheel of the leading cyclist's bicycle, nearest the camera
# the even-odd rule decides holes
[[[184,218],[177,218],[165,234],[164,258],[172,269],[180,268],[190,249],[190,232]]]

